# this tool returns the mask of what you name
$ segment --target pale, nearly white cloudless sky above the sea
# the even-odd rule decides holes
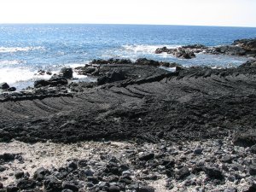
[[[0,0],[0,23],[256,26],[256,0]]]

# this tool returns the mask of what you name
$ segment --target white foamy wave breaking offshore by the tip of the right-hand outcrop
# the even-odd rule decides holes
[[[177,48],[180,45],[123,45],[125,50],[133,51],[135,53],[142,52],[148,54],[154,54],[154,51],[158,48],[167,47],[168,49]]]

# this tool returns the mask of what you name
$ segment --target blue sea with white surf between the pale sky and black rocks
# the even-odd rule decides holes
[[[175,61],[183,66],[237,67],[247,58],[198,54],[191,60],[155,55],[162,47],[188,44],[231,44],[240,38],[255,38],[256,28],[217,26],[146,25],[0,25],[0,83],[18,90],[32,86],[39,69],[58,72],[61,67],[79,67],[93,59],[140,57]],[[75,77],[93,80],[90,77]]]

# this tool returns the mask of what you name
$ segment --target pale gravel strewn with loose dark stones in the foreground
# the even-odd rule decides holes
[[[255,145],[200,142],[0,143],[8,191],[255,191]],[[11,156],[12,154],[9,154]],[[7,156],[7,154],[5,154]],[[1,190],[0,191],[5,191]]]

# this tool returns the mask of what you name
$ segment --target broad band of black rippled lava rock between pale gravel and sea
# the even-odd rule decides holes
[[[69,92],[67,79],[54,77],[37,85],[60,86],[0,97],[1,140],[198,140],[255,127],[255,67],[168,73],[111,64],[100,71],[100,86],[73,84]]]

